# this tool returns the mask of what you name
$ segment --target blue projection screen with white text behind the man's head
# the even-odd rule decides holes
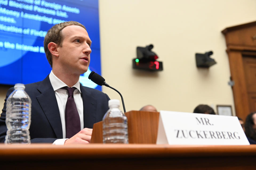
[[[51,71],[44,37],[70,20],[83,24],[92,40],[90,67],[80,82],[101,90],[88,79],[91,71],[101,74],[98,0],[0,0],[0,84],[42,81]]]

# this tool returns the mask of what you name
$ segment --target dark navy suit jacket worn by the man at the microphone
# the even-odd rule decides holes
[[[0,117],[0,142],[5,141],[7,131],[5,124],[6,100],[13,90],[14,88],[10,88],[6,94]],[[108,110],[109,97],[99,90],[88,88],[81,84],[80,90],[83,99],[84,128],[93,128],[93,124],[102,121],[104,114]],[[49,75],[43,81],[25,85],[25,91],[32,101],[29,128],[31,143],[53,143],[56,139],[62,139],[59,107]]]

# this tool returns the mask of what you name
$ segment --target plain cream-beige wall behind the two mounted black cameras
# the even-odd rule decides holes
[[[126,111],[152,104],[192,112],[200,103],[234,109],[221,31],[255,21],[255,6],[255,0],[99,0],[102,75],[123,94]],[[136,47],[151,43],[164,70],[133,70]],[[217,64],[198,69],[195,53],[209,50]],[[6,90],[0,87],[1,108]],[[102,90],[120,99],[113,90]]]

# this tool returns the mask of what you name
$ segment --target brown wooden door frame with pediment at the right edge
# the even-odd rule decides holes
[[[256,22],[228,27],[225,35],[235,111],[243,120],[256,111]]]

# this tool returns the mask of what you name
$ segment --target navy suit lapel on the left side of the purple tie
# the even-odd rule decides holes
[[[41,94],[37,96],[37,100],[45,113],[45,116],[53,128],[56,137],[63,138],[59,107],[53,87],[51,86],[49,75],[38,86],[38,90]]]

